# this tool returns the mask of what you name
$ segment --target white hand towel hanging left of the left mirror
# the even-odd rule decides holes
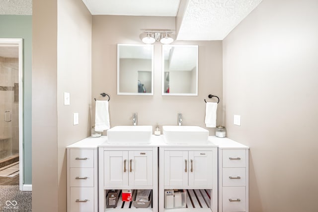
[[[95,131],[109,130],[108,101],[96,100],[95,106]]]

